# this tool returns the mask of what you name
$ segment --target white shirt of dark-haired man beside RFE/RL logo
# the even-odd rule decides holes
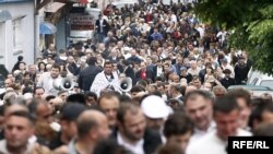
[[[250,137],[251,133],[242,129],[238,129],[237,137]],[[222,140],[216,134],[216,130],[204,135],[192,146],[187,149],[186,154],[227,154],[227,141]]]

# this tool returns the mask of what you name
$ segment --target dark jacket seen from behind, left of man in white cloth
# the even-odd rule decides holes
[[[85,68],[84,70],[82,70],[80,72],[80,76],[79,76],[79,87],[83,91],[90,91],[90,87],[92,85],[92,83],[95,80],[95,76],[97,75],[97,73],[99,73],[102,70],[96,67],[96,66],[90,66],[87,68]]]

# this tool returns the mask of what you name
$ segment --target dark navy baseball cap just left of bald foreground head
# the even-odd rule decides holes
[[[85,109],[86,107],[82,104],[68,103],[61,109],[60,119],[71,120],[71,121],[75,120]]]

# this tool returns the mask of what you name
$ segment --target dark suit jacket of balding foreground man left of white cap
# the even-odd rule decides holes
[[[118,142],[118,129],[114,129],[110,138],[115,141]],[[143,150],[145,154],[153,154],[159,145],[162,145],[162,138],[159,133],[152,131],[150,129],[145,130],[144,133],[144,144],[143,144]]]

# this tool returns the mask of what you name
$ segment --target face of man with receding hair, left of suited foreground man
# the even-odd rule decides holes
[[[117,110],[119,108],[119,99],[117,97],[100,99],[99,107],[105,111],[109,126],[115,127],[117,122]]]

